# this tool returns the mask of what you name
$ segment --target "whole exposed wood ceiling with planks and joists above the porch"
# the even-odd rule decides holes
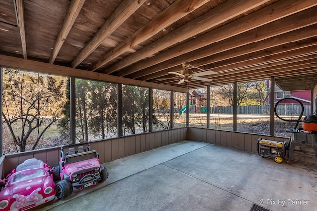
[[[284,90],[311,89],[317,0],[1,0],[0,54],[119,83],[187,89],[275,76]],[[185,61],[189,74],[214,71],[200,76],[212,81],[179,84],[170,72],[183,74]]]

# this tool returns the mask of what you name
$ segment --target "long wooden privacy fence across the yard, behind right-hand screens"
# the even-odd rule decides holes
[[[233,106],[218,106],[211,107],[211,114],[233,114]],[[278,105],[277,106],[278,115],[290,115],[298,116],[301,113],[300,105]],[[270,105],[249,105],[249,106],[238,106],[238,114],[269,114]],[[303,115],[309,115],[311,113],[311,106],[304,105]]]

